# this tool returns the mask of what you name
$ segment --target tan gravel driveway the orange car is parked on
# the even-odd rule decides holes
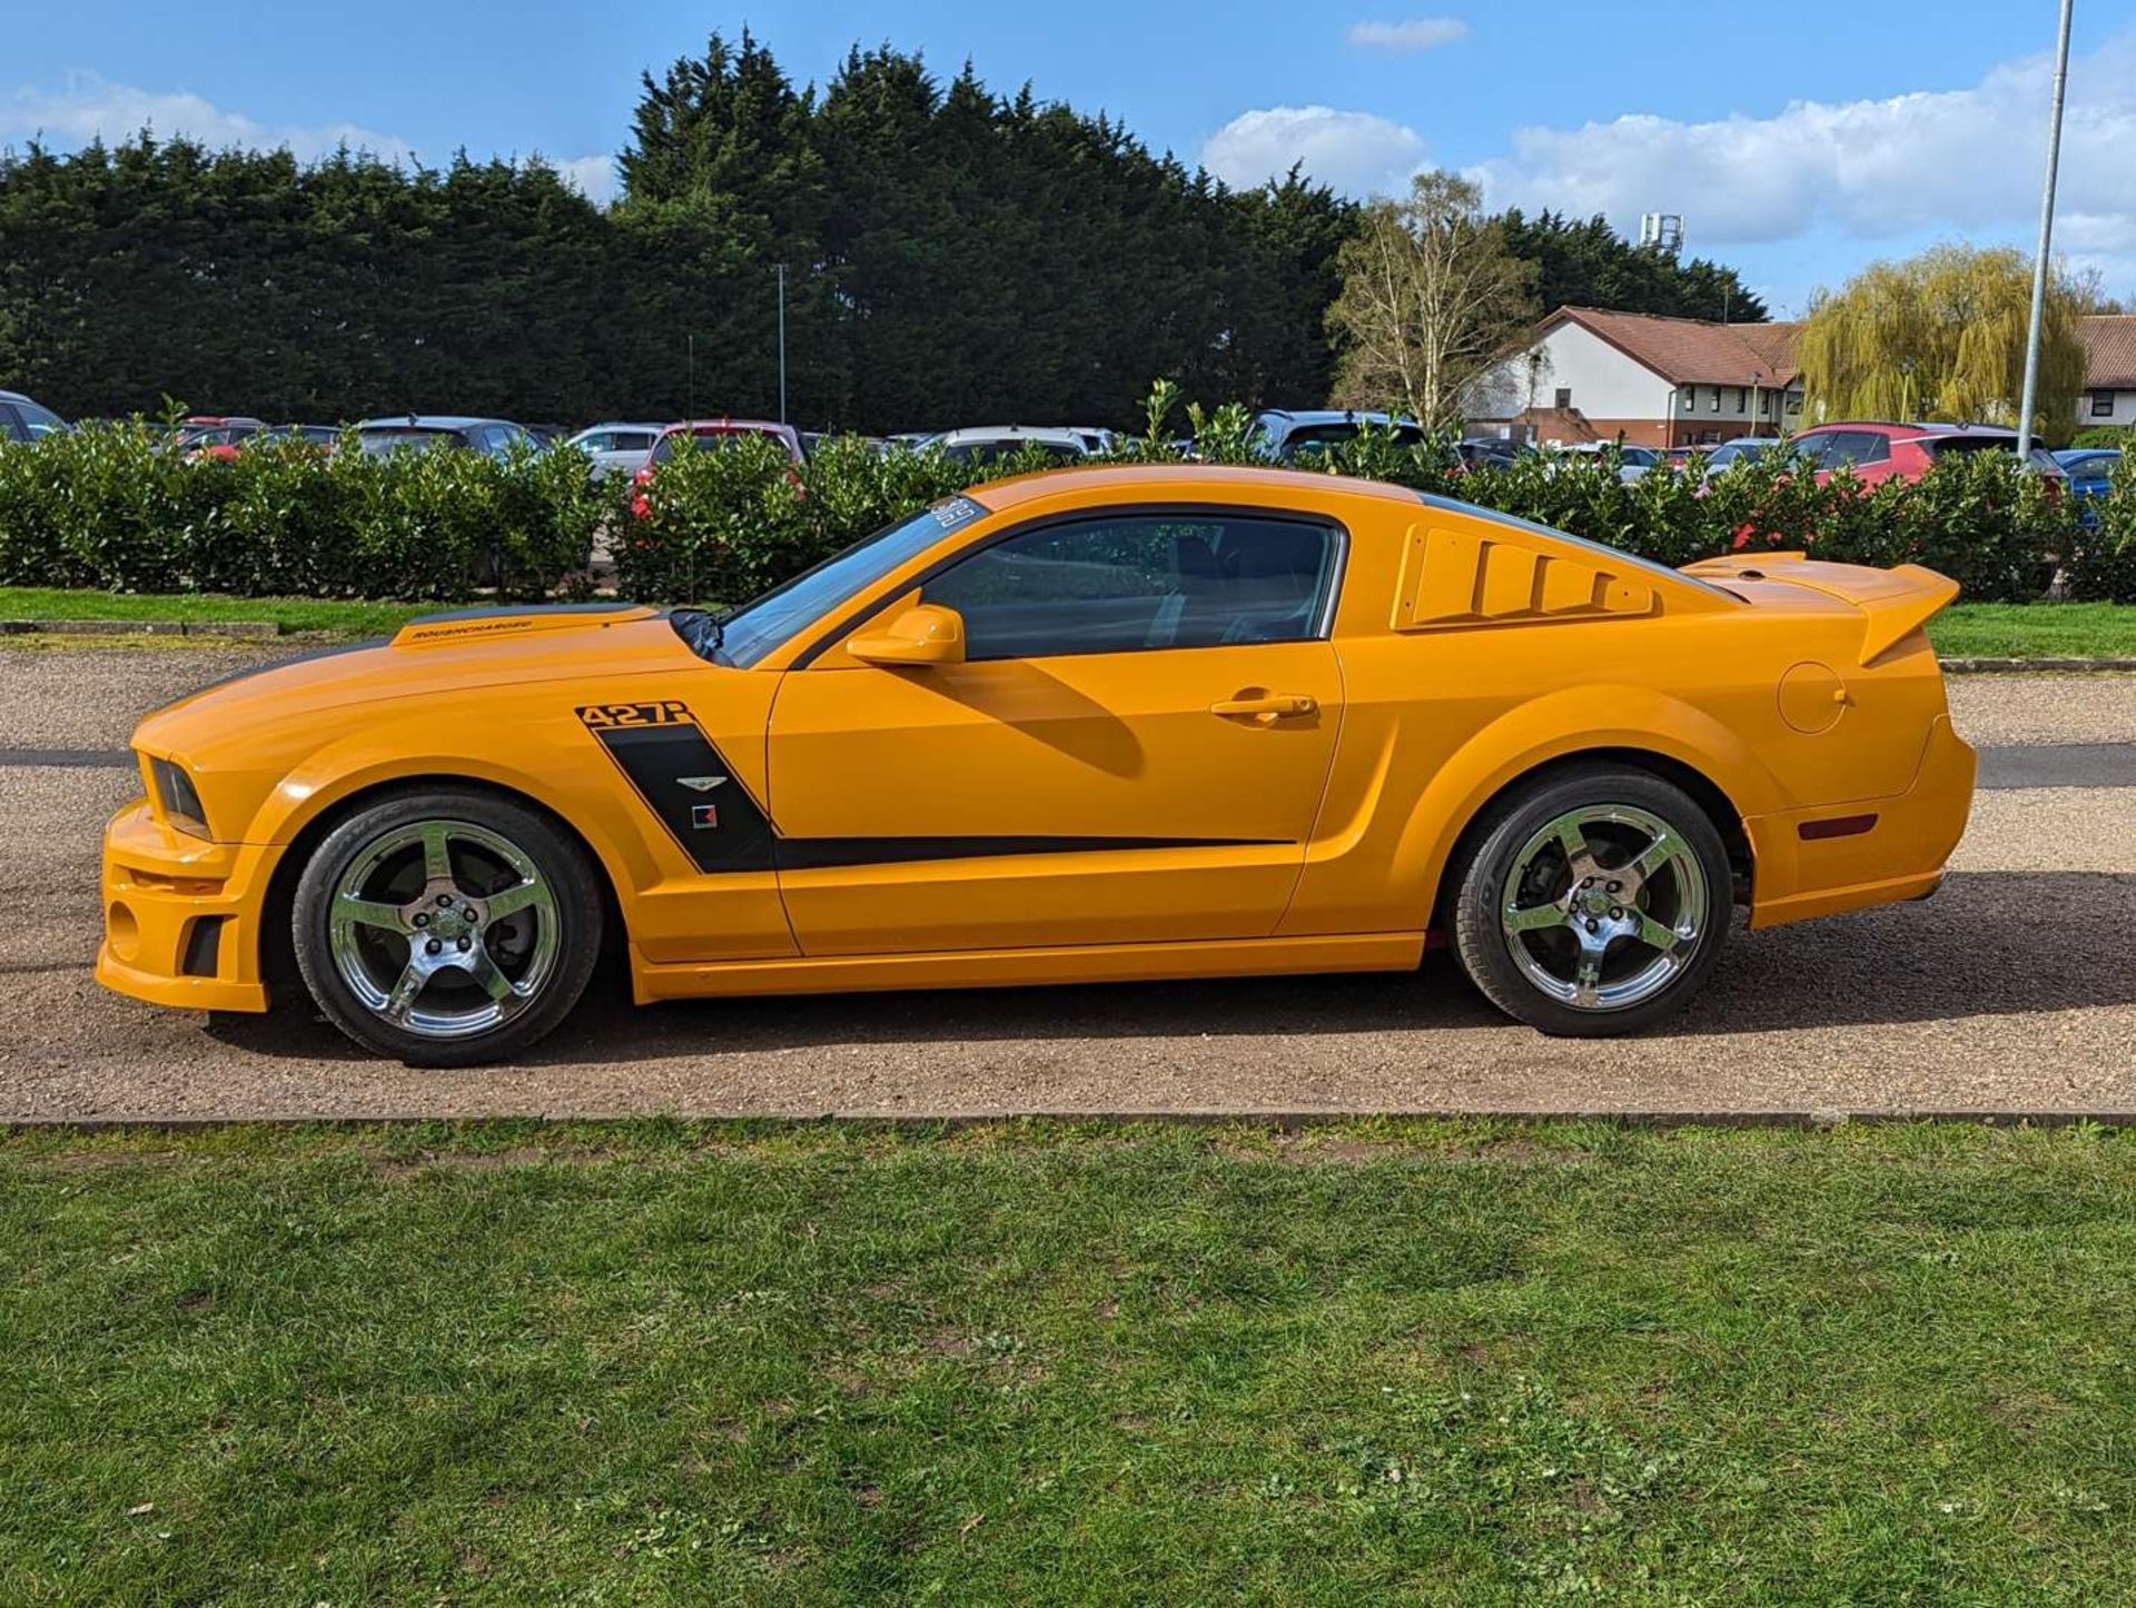
[[[254,656],[256,658],[256,656]],[[244,653],[0,653],[0,743],[122,743]],[[60,707],[60,711],[56,711]],[[2136,677],[1952,681],[1976,743],[2132,743]],[[113,769],[0,769],[0,1119],[607,1113],[2136,1113],[2136,788],[1982,792],[1927,903],[1739,931],[1672,1031],[1566,1044],[1420,978],[583,1010],[521,1066],[410,1072],[323,1025],[100,991]]]

